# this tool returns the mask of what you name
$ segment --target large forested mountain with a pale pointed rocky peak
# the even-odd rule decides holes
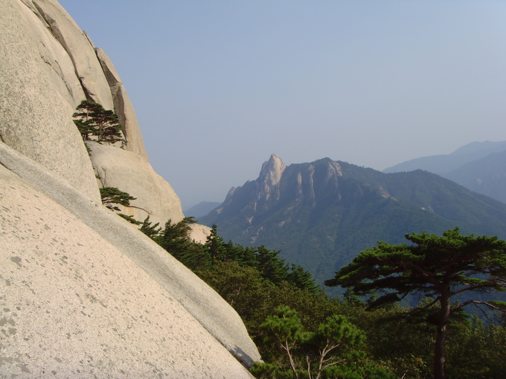
[[[274,154],[256,180],[199,218],[228,241],[281,250],[318,282],[377,241],[460,227],[506,238],[506,204],[428,171],[384,173],[329,158],[285,166]]]

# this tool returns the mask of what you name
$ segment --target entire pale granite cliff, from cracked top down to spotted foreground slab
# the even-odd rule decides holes
[[[97,174],[142,216],[183,217],[105,53],[54,0],[0,2],[0,40],[0,376],[250,377],[229,353],[260,359],[237,313],[101,205]],[[128,140],[90,143],[95,172],[71,118],[84,99]]]

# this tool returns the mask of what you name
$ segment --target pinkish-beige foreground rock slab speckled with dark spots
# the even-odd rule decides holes
[[[0,199],[0,377],[252,377],[145,270],[3,166]]]

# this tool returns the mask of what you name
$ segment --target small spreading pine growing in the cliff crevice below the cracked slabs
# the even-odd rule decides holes
[[[123,140],[121,124],[113,111],[105,110],[102,105],[88,100],[81,101],[76,111],[72,117],[75,118],[74,123],[83,140],[89,139],[90,136],[97,136],[98,143],[114,144]]]

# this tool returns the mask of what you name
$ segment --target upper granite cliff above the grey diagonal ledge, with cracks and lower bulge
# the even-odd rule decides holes
[[[0,133],[5,143],[67,178],[96,201],[95,176],[99,175],[101,185],[119,187],[138,199],[132,202],[136,208],[124,213],[143,216],[141,221],[150,215],[151,221],[160,224],[168,219],[180,221],[184,215],[172,186],[155,175],[144,175],[143,180],[136,177],[151,167],[132,103],[105,52],[54,0],[18,0],[4,7],[17,11],[6,10],[2,15],[4,40],[9,41],[3,43],[0,58],[0,89],[5,94],[0,99]],[[71,118],[85,99],[113,110],[128,141],[125,151],[104,146],[101,154],[92,156],[95,173],[90,171]],[[128,163],[121,164],[124,157]],[[116,164],[108,165],[104,158]],[[170,200],[160,201],[160,194]]]

